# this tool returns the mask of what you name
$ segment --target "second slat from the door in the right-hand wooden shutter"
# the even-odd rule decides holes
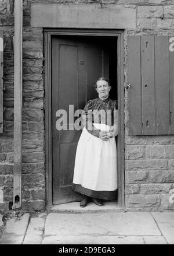
[[[142,134],[155,134],[154,37],[141,37]]]

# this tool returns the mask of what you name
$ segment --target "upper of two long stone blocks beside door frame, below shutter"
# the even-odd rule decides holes
[[[146,159],[146,160],[125,160],[126,171],[136,170],[165,170],[168,168],[167,160]]]

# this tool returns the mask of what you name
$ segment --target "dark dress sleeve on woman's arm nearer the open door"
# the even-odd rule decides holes
[[[95,128],[95,126],[92,123],[92,111],[93,103],[92,100],[89,100],[86,103],[84,113],[82,114],[82,124],[91,135],[99,137],[100,129]]]

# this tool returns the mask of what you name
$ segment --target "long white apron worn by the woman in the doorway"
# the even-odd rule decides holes
[[[110,129],[106,124],[93,125],[102,131]],[[89,134],[84,127],[77,145],[73,183],[95,191],[117,189],[115,138],[102,141],[102,139]]]

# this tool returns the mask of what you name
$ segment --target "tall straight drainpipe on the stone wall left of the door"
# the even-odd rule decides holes
[[[14,0],[13,209],[21,208],[22,85],[23,85],[23,0]]]

